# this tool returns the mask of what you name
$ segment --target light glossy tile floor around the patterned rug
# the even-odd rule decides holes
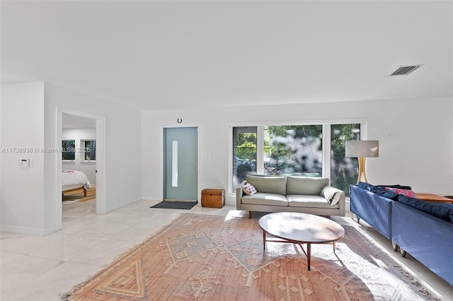
[[[0,232],[0,300],[61,300],[61,295],[74,285],[85,281],[180,214],[248,217],[246,211],[236,211],[234,206],[203,208],[197,204],[190,211],[149,208],[155,203],[137,201],[102,216],[94,213],[94,200],[64,203],[63,229],[59,232],[45,237]],[[349,208],[349,204],[346,207]],[[253,218],[259,216],[254,214]],[[333,220],[364,229],[433,296],[453,300],[451,285],[411,256],[403,259],[393,252],[389,240],[365,223],[355,223],[350,212],[344,218],[333,217]]]

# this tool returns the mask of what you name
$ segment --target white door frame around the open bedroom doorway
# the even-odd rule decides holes
[[[74,117],[94,119],[96,121],[96,214],[105,213],[105,117],[84,112],[80,110],[69,109],[66,107],[57,107],[57,141],[56,146],[62,145],[62,118],[63,114]],[[57,155],[57,181],[55,184],[56,203],[55,206],[55,225],[57,230],[62,229],[63,206],[62,206],[62,157]]]

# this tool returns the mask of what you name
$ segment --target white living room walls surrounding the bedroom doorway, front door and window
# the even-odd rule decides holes
[[[198,126],[200,191],[229,185],[231,122],[367,119],[379,158],[367,160],[371,183],[408,184],[415,191],[453,194],[453,98],[333,102],[139,112],[57,85],[1,85],[1,148],[57,148],[57,106],[106,118],[105,210],[162,197],[162,129]],[[183,119],[178,124],[177,119]],[[1,230],[45,235],[55,231],[59,153],[1,153]],[[200,193],[199,191],[199,193]],[[234,203],[232,196],[226,202]]]

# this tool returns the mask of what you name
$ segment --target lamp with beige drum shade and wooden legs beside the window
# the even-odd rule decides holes
[[[357,184],[360,182],[362,177],[362,182],[368,182],[367,174],[365,173],[365,160],[367,160],[367,158],[379,157],[379,141],[346,141],[345,156],[359,159],[359,176],[357,177]]]

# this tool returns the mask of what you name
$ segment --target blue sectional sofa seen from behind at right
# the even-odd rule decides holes
[[[351,212],[453,285],[453,205],[428,203],[360,182],[350,187]],[[393,187],[401,187],[394,185]],[[403,187],[410,189],[411,187]]]

